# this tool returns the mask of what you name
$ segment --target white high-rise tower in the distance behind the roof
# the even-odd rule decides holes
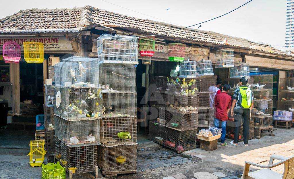
[[[287,0],[285,47],[294,48],[294,0]]]

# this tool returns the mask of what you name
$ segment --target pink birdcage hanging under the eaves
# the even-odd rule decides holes
[[[19,63],[20,46],[16,42],[5,42],[3,45],[3,58],[5,63]]]

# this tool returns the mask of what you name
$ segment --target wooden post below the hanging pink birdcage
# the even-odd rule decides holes
[[[9,64],[10,82],[12,83],[12,113],[20,113],[19,63]]]

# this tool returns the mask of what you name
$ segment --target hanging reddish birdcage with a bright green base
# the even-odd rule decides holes
[[[186,44],[168,44],[168,59],[172,62],[183,62],[186,54]]]

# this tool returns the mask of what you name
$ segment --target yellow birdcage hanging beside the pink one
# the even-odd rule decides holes
[[[43,63],[44,44],[40,42],[24,42],[24,59],[27,63]]]

